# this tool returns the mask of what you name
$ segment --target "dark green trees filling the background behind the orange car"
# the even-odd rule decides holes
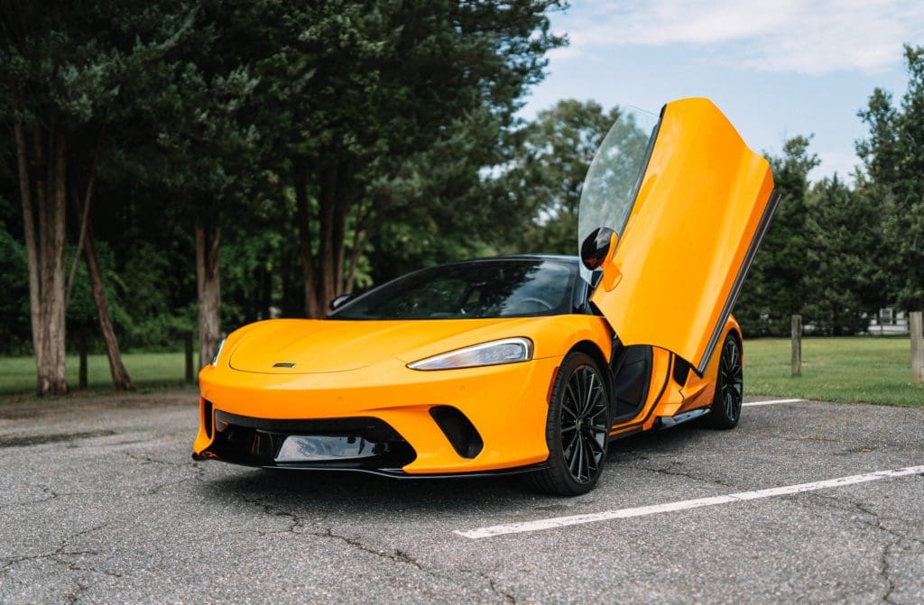
[[[574,253],[619,108],[517,118],[563,4],[0,0],[0,353],[43,347],[39,390],[63,393],[65,351],[192,331],[208,360],[222,332],[423,265]],[[737,304],[749,335],[924,308],[924,48],[906,66],[900,100],[858,111],[856,173],[811,182],[810,134],[770,158],[783,201]],[[144,380],[117,365],[117,386]]]

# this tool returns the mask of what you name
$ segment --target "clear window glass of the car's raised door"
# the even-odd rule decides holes
[[[593,156],[581,188],[577,215],[577,249],[598,227],[623,235],[645,172],[659,118],[633,107],[620,110],[610,132]],[[589,279],[582,266],[581,273]]]

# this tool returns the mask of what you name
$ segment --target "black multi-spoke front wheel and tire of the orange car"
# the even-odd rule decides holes
[[[606,384],[592,357],[578,351],[565,356],[546,418],[548,468],[527,476],[532,487],[543,493],[578,496],[597,485],[610,441]]]

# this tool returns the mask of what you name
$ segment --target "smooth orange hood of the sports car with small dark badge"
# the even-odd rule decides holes
[[[499,324],[509,325],[509,335],[524,335],[524,324],[532,321],[533,318],[261,321],[229,342],[229,363],[239,371],[264,374],[342,372],[395,358],[408,363],[504,338],[507,330],[499,331]]]

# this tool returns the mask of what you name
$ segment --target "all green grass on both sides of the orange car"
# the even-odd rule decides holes
[[[182,353],[129,353],[123,357],[140,389],[183,384]],[[90,390],[105,392],[109,365],[103,355],[89,358]],[[67,357],[67,382],[77,387],[77,357]],[[924,407],[924,384],[911,382],[907,338],[807,338],[802,341],[802,376],[789,369],[789,340],[745,341],[745,391],[750,395],[824,401],[866,402]],[[0,393],[32,393],[31,357],[0,357]]]

